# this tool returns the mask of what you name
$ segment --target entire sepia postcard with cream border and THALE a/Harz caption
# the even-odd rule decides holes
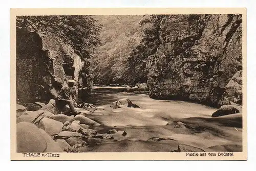
[[[10,9],[11,160],[247,160],[246,9]]]

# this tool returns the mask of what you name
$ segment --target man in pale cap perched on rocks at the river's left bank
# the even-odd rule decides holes
[[[74,96],[72,87],[74,86],[75,83],[76,83],[75,80],[69,80],[68,84],[64,85],[61,88],[57,97],[57,105],[60,108],[64,107],[65,105],[69,105],[71,112],[74,116],[81,113],[75,110],[75,106],[74,106],[75,100],[72,98]]]

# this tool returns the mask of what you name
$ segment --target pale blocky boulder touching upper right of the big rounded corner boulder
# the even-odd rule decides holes
[[[37,127],[45,130],[49,135],[57,135],[61,132],[63,124],[57,120],[44,117]]]

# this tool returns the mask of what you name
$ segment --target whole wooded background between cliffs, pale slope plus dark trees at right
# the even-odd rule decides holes
[[[103,28],[95,53],[95,81],[100,84],[146,82],[146,59],[160,44],[165,15],[97,16]]]

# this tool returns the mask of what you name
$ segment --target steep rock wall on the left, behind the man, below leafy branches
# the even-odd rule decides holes
[[[16,84],[20,102],[49,101],[67,80],[78,81],[83,62],[60,38],[19,28],[16,36]]]

